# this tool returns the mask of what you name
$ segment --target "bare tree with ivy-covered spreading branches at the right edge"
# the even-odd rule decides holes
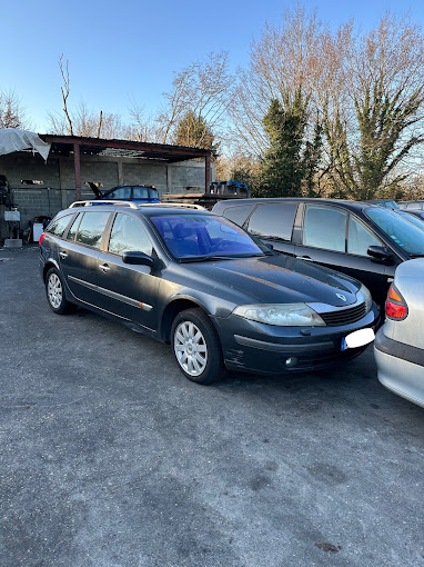
[[[420,27],[387,13],[376,29],[346,39],[339,73],[350,116],[342,117],[340,98],[327,122],[331,173],[344,195],[371,199],[396,190],[424,141],[424,38]]]

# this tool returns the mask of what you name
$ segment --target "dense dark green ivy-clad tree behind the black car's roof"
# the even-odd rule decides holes
[[[262,197],[317,196],[315,178],[322,151],[322,126],[316,117],[312,140],[306,138],[309,97],[299,88],[293,100],[273,99],[263,119],[270,146],[261,163],[256,195]]]

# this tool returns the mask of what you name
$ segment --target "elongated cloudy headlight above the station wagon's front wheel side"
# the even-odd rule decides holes
[[[306,304],[240,305],[234,315],[277,327],[324,327],[325,322]]]

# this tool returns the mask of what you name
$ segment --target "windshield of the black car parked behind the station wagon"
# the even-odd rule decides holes
[[[388,209],[370,207],[364,212],[405,252],[411,256],[424,255],[424,230]]]

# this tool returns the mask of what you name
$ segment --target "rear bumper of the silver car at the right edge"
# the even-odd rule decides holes
[[[382,385],[424,407],[424,350],[390,339],[382,328],[375,337],[374,356]]]

